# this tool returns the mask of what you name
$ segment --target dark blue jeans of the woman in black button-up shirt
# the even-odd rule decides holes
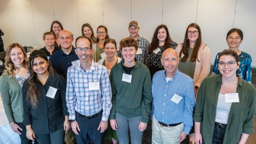
[[[64,144],[65,131],[63,128],[48,134],[36,134],[38,144]]]

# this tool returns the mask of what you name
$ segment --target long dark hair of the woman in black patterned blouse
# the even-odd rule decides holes
[[[157,33],[161,28],[164,28],[165,31],[166,31],[165,45],[164,45],[163,51],[165,51],[165,49],[167,49],[167,48],[170,48],[172,40],[171,40],[169,30],[168,30],[166,25],[160,25],[160,26],[156,27],[154,35],[152,37],[152,41],[149,44],[149,54],[151,54],[155,50],[155,48],[157,48],[158,45],[159,45],[159,40],[157,38]]]

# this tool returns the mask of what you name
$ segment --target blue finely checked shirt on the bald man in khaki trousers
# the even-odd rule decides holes
[[[193,80],[178,70],[168,82],[165,79],[165,70],[156,72],[152,80],[155,118],[165,124],[183,123],[183,133],[188,134],[193,125],[192,112],[195,106],[193,86]],[[174,94],[182,97],[178,104],[171,101]]]

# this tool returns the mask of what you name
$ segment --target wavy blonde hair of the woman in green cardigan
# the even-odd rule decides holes
[[[13,64],[13,62],[11,61],[11,50],[12,48],[21,48],[22,53],[24,54],[24,61],[23,61],[23,66],[25,68],[28,68],[28,58],[27,58],[27,53],[25,51],[25,49],[21,46],[21,44],[19,43],[12,43],[8,46],[7,50],[6,50],[6,57],[5,57],[5,70],[4,70],[4,75],[10,75],[10,77],[15,75],[15,70],[19,69],[16,68],[15,65]]]

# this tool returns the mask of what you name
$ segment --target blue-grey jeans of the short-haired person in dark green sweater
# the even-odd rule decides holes
[[[131,134],[132,144],[141,144],[143,132],[139,131],[141,117],[125,117],[116,113],[117,137],[119,144],[129,144],[128,130]]]

